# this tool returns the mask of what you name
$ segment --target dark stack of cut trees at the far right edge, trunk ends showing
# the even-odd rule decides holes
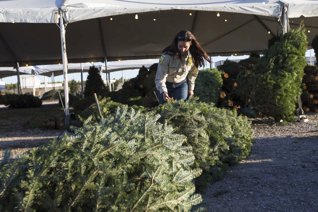
[[[306,65],[304,68],[303,85],[301,88],[302,109],[305,112],[313,111],[318,113],[318,67]]]

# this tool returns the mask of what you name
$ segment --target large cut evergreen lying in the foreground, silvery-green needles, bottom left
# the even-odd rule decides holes
[[[190,168],[185,137],[159,118],[122,106],[16,161],[5,153],[0,210],[190,211],[202,202],[192,182],[201,170]]]

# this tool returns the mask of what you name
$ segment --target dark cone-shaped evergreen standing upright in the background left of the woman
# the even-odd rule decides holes
[[[98,68],[93,65],[89,67],[84,96],[92,96],[93,93],[98,94],[103,91],[106,91],[106,86],[100,77]]]

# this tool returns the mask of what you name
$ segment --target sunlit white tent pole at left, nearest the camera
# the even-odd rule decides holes
[[[68,81],[67,81],[67,55],[65,45],[65,27],[63,24],[63,12],[59,10],[60,15],[60,30],[61,30],[61,47],[62,47],[62,60],[63,60],[63,74],[64,74],[64,99],[65,99],[65,114],[70,113],[68,102]]]

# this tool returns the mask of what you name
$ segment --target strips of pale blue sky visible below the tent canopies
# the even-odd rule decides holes
[[[310,52],[311,52],[311,56],[312,57],[315,57],[315,52],[313,49],[310,49],[310,50],[307,50],[306,51],[306,57],[310,57]],[[243,56],[229,56],[229,57],[223,57],[223,56],[217,56],[217,57],[212,57],[212,61],[213,62],[217,62],[217,61],[220,61],[220,60],[226,60],[227,58],[229,58],[229,60],[234,60],[234,59],[245,59],[245,58],[249,58],[249,55],[243,55]],[[154,59],[154,60],[158,60],[158,59]],[[111,63],[111,62],[109,62]],[[94,65],[98,66],[98,65],[102,65],[103,63],[95,63]],[[39,67],[43,67],[43,65],[39,65]],[[214,67],[214,66],[213,66]],[[210,68],[210,64],[207,64],[206,68]],[[202,69],[199,68],[199,69]],[[127,79],[130,79],[130,78],[134,78],[137,76],[138,74],[138,71],[139,69],[134,69],[134,70],[126,70],[126,76],[127,76]],[[125,71],[124,71],[124,74],[125,74]],[[20,75],[20,77],[22,76],[30,76],[30,75]],[[41,75],[37,75],[36,76],[38,79],[40,79],[41,83],[43,82],[44,83],[44,80],[45,80],[45,77],[44,76],[41,76]],[[71,74],[68,74],[67,75],[67,79],[68,80],[72,80],[74,79],[75,77],[75,80],[76,81],[80,81],[81,77],[80,77],[80,73],[71,73]],[[118,72],[111,72],[110,73],[110,79],[120,79],[122,77],[122,71],[118,71]],[[125,77],[125,76],[124,76]],[[84,72],[83,73],[83,80],[85,81],[87,78],[87,72]],[[103,73],[103,79],[105,80],[106,79],[106,73]],[[17,76],[11,76],[11,77],[4,77],[2,79],[0,79],[0,81],[4,81],[5,84],[10,84],[10,83],[17,83]],[[63,75],[60,75],[60,76],[56,76],[54,78],[55,82],[58,82],[58,81],[63,81]],[[48,83],[51,83],[52,82],[52,78],[51,77],[47,77],[47,82]]]

